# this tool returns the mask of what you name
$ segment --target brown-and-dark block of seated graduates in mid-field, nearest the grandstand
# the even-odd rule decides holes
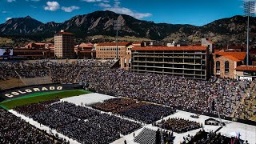
[[[146,124],[155,122],[167,115],[174,114],[175,111],[170,107],[158,106],[146,102],[136,102],[135,100],[127,98],[106,100],[106,102],[96,104],[93,107],[98,110],[120,114]]]

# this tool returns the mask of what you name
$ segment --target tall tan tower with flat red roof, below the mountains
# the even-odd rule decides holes
[[[74,34],[61,30],[54,35],[54,56],[56,58],[74,58]]]

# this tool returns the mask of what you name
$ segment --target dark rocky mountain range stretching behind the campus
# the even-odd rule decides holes
[[[199,42],[201,38],[210,38],[213,42],[244,43],[246,42],[246,19],[243,16],[223,18],[210,22],[205,26],[181,24],[154,23],[138,20],[126,14],[116,14],[111,11],[95,11],[90,14],[77,15],[61,23],[42,23],[26,16],[11,18],[0,24],[0,36],[42,37],[52,38],[60,30],[74,33],[76,38],[86,38],[94,35],[114,37],[114,20],[121,22],[122,30],[118,35],[150,38],[152,40]],[[250,42],[255,42],[256,19],[250,18]]]

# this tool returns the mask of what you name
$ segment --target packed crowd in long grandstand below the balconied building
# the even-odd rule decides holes
[[[232,114],[250,85],[247,81],[227,78],[201,81],[121,69],[84,68],[81,74],[78,81],[87,80],[89,90],[210,114],[217,114],[218,106],[220,114],[226,116]]]

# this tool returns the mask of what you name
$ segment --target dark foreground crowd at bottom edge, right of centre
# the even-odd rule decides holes
[[[186,138],[183,137],[183,142],[182,142],[182,144],[215,144],[215,143],[240,144],[241,142],[239,138],[229,138],[229,137],[223,136],[220,133],[217,134],[212,131],[210,133],[207,133],[204,130],[198,131],[198,133],[194,136],[189,134]]]

